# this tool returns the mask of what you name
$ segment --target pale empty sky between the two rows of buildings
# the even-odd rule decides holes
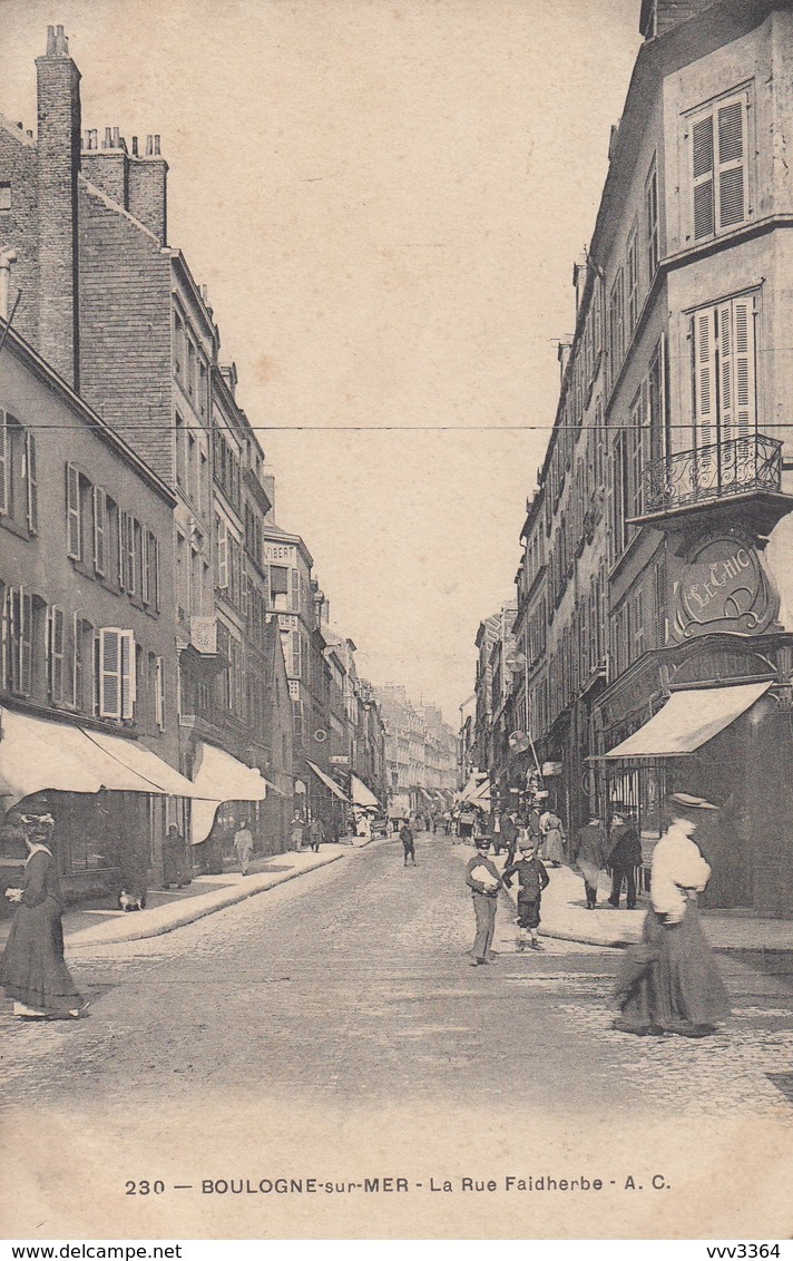
[[[35,127],[62,23],[83,127],[161,135],[169,241],[262,426],[279,525],[359,672],[454,725],[478,624],[513,595],[548,438],[521,426],[553,420],[638,19],[639,0],[0,0],[3,113]]]

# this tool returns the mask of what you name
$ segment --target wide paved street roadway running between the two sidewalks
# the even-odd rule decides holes
[[[630,1160],[624,1135],[640,1134],[645,1166],[644,1127],[663,1137],[669,1117],[705,1125],[709,1141],[717,1129],[738,1129],[743,1141],[758,1129],[769,1142],[779,1130],[789,1145],[784,977],[725,960],[734,1016],[703,1043],[614,1034],[614,951],[546,939],[543,955],[516,955],[504,897],[498,957],[472,968],[466,851],[426,835],[416,847],[415,870],[402,866],[398,842],[382,841],[169,936],[74,951],[69,962],[91,997],[90,1019],[42,1025],[3,1016],[8,1139],[29,1134],[35,1116],[34,1168],[57,1159],[62,1145],[86,1145],[77,1168],[83,1178],[86,1160],[95,1169],[100,1198],[88,1199],[91,1212],[102,1194],[124,1195],[130,1179],[164,1179],[170,1213],[174,1197],[183,1198],[188,1235],[197,1211],[231,1214],[212,1218],[212,1228],[233,1235],[256,1197],[173,1192],[171,1183],[323,1177],[306,1168],[313,1150],[323,1153],[325,1174],[339,1178],[363,1161],[364,1175],[407,1170],[421,1182],[431,1158],[440,1161],[437,1177],[451,1177],[470,1145],[469,1171],[485,1178],[561,1165],[596,1174],[596,1165],[618,1180]],[[535,1117],[543,1117],[538,1131]],[[622,1131],[619,1155],[598,1137],[604,1126]],[[221,1159],[226,1146],[231,1169]],[[6,1175],[11,1192],[18,1179],[35,1177],[19,1166]],[[73,1212],[67,1188],[68,1177],[63,1193]],[[446,1212],[441,1198],[431,1197],[432,1221]],[[158,1212],[154,1197],[113,1204],[113,1213],[135,1211],[149,1224]],[[296,1208],[286,1197],[270,1208],[309,1213],[304,1199]],[[424,1211],[417,1200],[416,1212]],[[325,1217],[306,1221],[318,1235],[328,1228]]]

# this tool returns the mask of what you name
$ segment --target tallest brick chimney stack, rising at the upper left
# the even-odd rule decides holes
[[[39,349],[79,388],[77,175],[79,71],[63,26],[47,28],[37,57],[39,166]]]

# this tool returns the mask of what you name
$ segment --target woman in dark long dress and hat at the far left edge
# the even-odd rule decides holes
[[[50,849],[50,816],[28,823],[28,859],[21,888],[6,889],[19,904],[0,963],[0,984],[14,1015],[76,1019],[86,1010],[63,960],[63,895]]]

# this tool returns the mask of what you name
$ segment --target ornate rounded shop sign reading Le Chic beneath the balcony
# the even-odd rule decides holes
[[[740,535],[701,543],[676,584],[674,638],[715,630],[761,634],[779,614],[779,595],[760,552]]]

